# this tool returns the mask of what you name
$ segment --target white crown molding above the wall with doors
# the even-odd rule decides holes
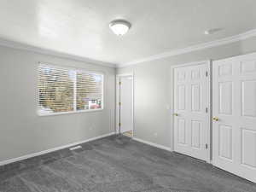
[[[187,48],[183,48],[183,49],[173,49],[171,51],[167,51],[161,54],[157,54],[157,55],[151,55],[142,59],[138,59],[135,61],[131,61],[131,62],[126,62],[123,64],[118,65],[117,67],[127,67],[127,66],[131,66],[131,65],[135,65],[138,63],[142,63],[142,62],[146,62],[146,61],[154,61],[154,60],[160,60],[166,57],[170,57],[170,56],[175,56],[175,55],[182,55],[185,53],[189,53],[189,52],[193,52],[196,50],[201,50],[201,49],[207,49],[207,48],[212,48],[212,47],[218,47],[220,45],[224,45],[224,44],[231,44],[231,43],[235,43],[235,42],[239,42],[241,40],[247,39],[247,38],[252,38],[256,36],[256,29],[238,34],[238,35],[234,35],[231,36],[229,38],[221,38],[215,41],[211,41],[211,42],[207,42],[204,44],[196,44]]]

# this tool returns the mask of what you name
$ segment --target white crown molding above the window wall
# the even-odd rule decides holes
[[[22,44],[22,43],[18,43],[18,42],[11,41],[11,40],[6,40],[3,38],[0,38],[0,45],[4,46],[4,47],[26,50],[26,51],[30,51],[30,52],[34,52],[34,53],[43,54],[43,55],[52,55],[52,56],[57,56],[57,57],[65,58],[65,59],[71,59],[74,61],[82,61],[82,62],[85,62],[88,64],[96,64],[96,65],[103,66],[103,67],[113,67],[113,68],[117,67],[117,64],[115,64],[115,63],[96,61],[96,60],[89,59],[86,57],[82,57],[82,56],[78,56],[78,55],[70,55],[70,54],[66,54],[66,53],[63,53],[60,51],[55,51],[52,49],[42,49],[42,48],[39,48],[36,46]]]

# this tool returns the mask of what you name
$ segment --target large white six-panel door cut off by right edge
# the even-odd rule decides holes
[[[256,54],[212,69],[213,164],[256,183]]]

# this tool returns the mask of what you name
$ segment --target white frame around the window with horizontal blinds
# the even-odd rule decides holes
[[[68,111],[68,112],[40,113],[39,110],[38,110],[38,106],[39,106],[39,103],[40,103],[40,101],[39,101],[39,89],[38,89],[38,84],[39,84],[38,68],[39,68],[40,65],[45,65],[45,66],[48,66],[48,67],[60,67],[60,68],[63,68],[63,69],[76,71],[76,73],[78,71],[82,71],[82,72],[85,72],[85,73],[101,75],[102,76],[102,103],[101,103],[102,108],[84,109],[84,110],[79,110],[79,111],[77,110],[77,108],[74,108],[73,111]],[[38,81],[37,81],[37,114],[38,114],[38,116],[44,117],[44,116],[55,116],[55,115],[72,114],[72,113],[92,113],[92,112],[99,112],[99,111],[104,110],[105,73],[102,73],[102,72],[99,72],[99,71],[91,71],[91,70],[88,70],[88,69],[83,68],[83,67],[67,67],[67,66],[61,66],[61,65],[56,65],[56,64],[49,64],[49,63],[46,63],[46,62],[38,62],[37,73],[38,73],[38,76],[37,76],[38,77]],[[74,89],[74,101],[73,101],[73,103],[76,103],[77,102],[77,100],[76,100],[77,90],[76,90],[76,86],[74,86],[74,87],[75,87],[75,89]]]

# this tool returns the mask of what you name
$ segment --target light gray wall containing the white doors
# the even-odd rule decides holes
[[[134,73],[135,137],[173,149],[172,110],[167,108],[172,103],[172,65],[218,60],[254,51],[256,38],[249,38],[242,42],[119,68],[117,73]]]

